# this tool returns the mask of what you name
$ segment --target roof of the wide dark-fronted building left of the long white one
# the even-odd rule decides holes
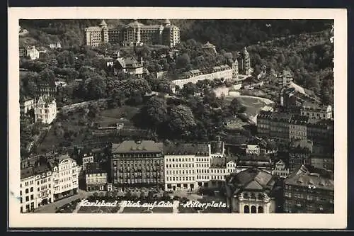
[[[143,140],[141,142],[127,140],[120,144],[113,143],[112,145],[112,153],[163,152],[163,150],[164,145],[162,142],[154,142],[151,140]]]

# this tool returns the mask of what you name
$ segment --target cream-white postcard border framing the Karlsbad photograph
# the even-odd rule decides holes
[[[334,214],[21,214],[18,20],[64,18],[334,19]],[[347,225],[346,9],[232,8],[9,8],[8,9],[9,227],[345,228]]]

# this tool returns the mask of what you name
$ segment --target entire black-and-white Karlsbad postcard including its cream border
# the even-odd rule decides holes
[[[345,227],[346,11],[155,10],[13,13],[16,227]]]

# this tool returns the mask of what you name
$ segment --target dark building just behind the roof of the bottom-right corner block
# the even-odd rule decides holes
[[[313,150],[311,140],[293,140],[289,148],[289,170],[301,167],[302,164],[309,164],[309,156]]]

